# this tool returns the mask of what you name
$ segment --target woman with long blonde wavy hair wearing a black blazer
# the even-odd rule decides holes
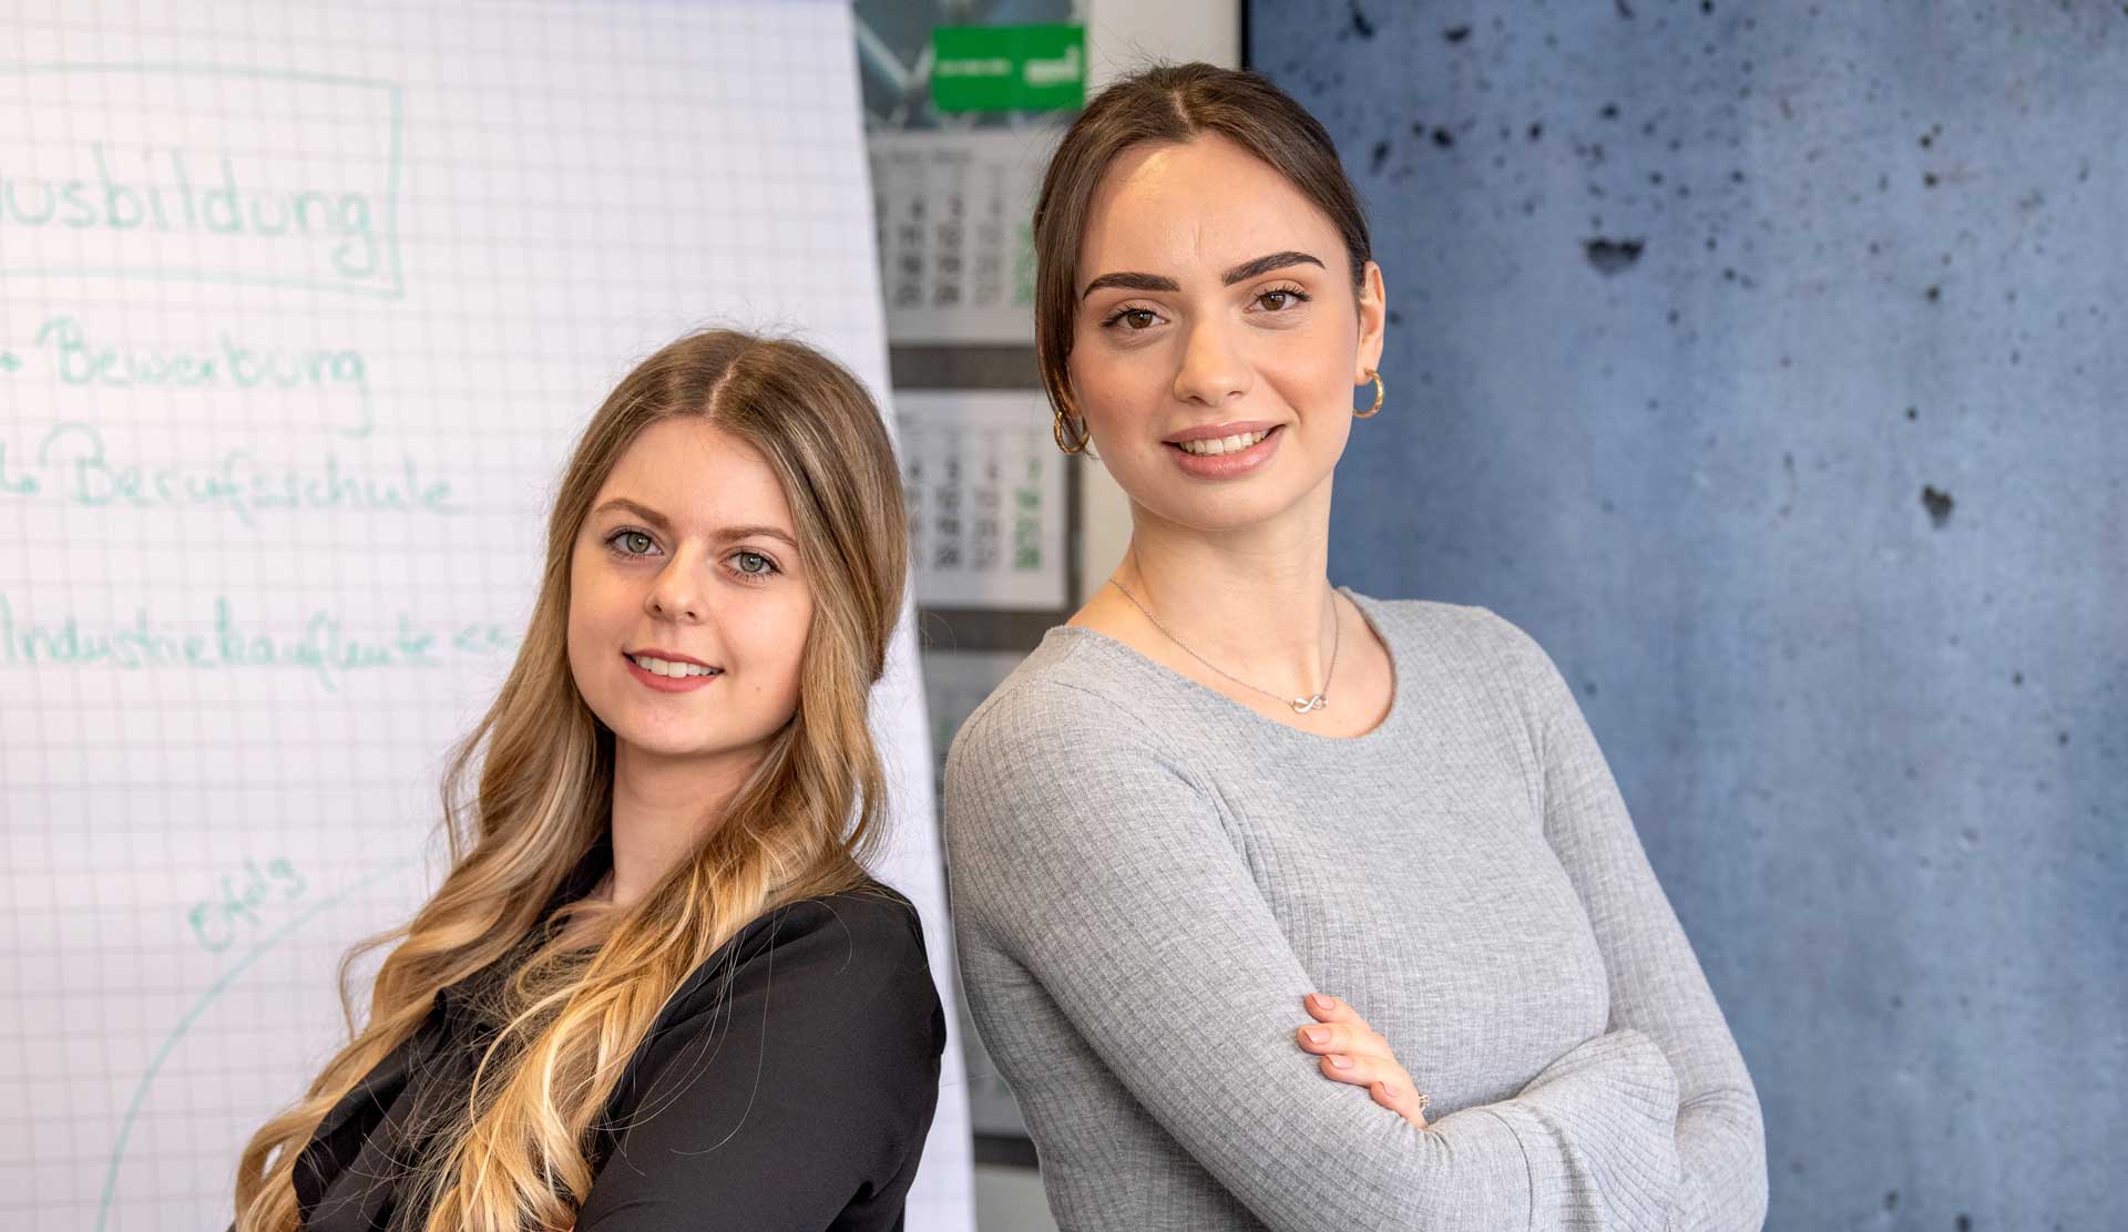
[[[904,553],[885,428],[819,353],[704,332],[613,389],[451,757],[451,870],[245,1149],[236,1232],[902,1226],[945,1045],[864,866]]]

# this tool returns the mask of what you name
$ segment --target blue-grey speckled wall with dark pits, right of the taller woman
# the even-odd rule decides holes
[[[1551,651],[1770,1228],[2122,1228],[2128,6],[1249,4],[1387,270],[1332,575]]]

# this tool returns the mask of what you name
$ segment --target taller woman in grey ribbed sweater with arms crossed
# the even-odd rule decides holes
[[[1058,445],[1132,538],[960,728],[945,813],[1060,1223],[1756,1228],[1751,1077],[1558,668],[1330,585],[1347,443],[1453,413],[1377,372],[1330,136],[1262,77],[1143,72],[1034,247]]]

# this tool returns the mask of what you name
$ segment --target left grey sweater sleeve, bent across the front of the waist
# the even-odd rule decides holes
[[[1021,704],[1009,723],[977,713],[955,740],[947,849],[979,1021],[996,985],[1036,983],[1270,1228],[1666,1226],[1677,1102],[1649,1036],[1602,1034],[1517,1098],[1424,1132],[1326,1081],[1292,1038],[1313,985],[1217,794],[1153,726],[1092,706]],[[992,951],[1015,970],[994,972]]]

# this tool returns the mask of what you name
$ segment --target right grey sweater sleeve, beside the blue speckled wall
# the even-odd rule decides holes
[[[1766,1221],[1758,1092],[1573,689],[1526,632],[1500,619],[1524,675],[1543,768],[1545,840],[1587,911],[1611,985],[1611,1028],[1653,1038],[1677,1072],[1679,1185],[1670,1228]]]

